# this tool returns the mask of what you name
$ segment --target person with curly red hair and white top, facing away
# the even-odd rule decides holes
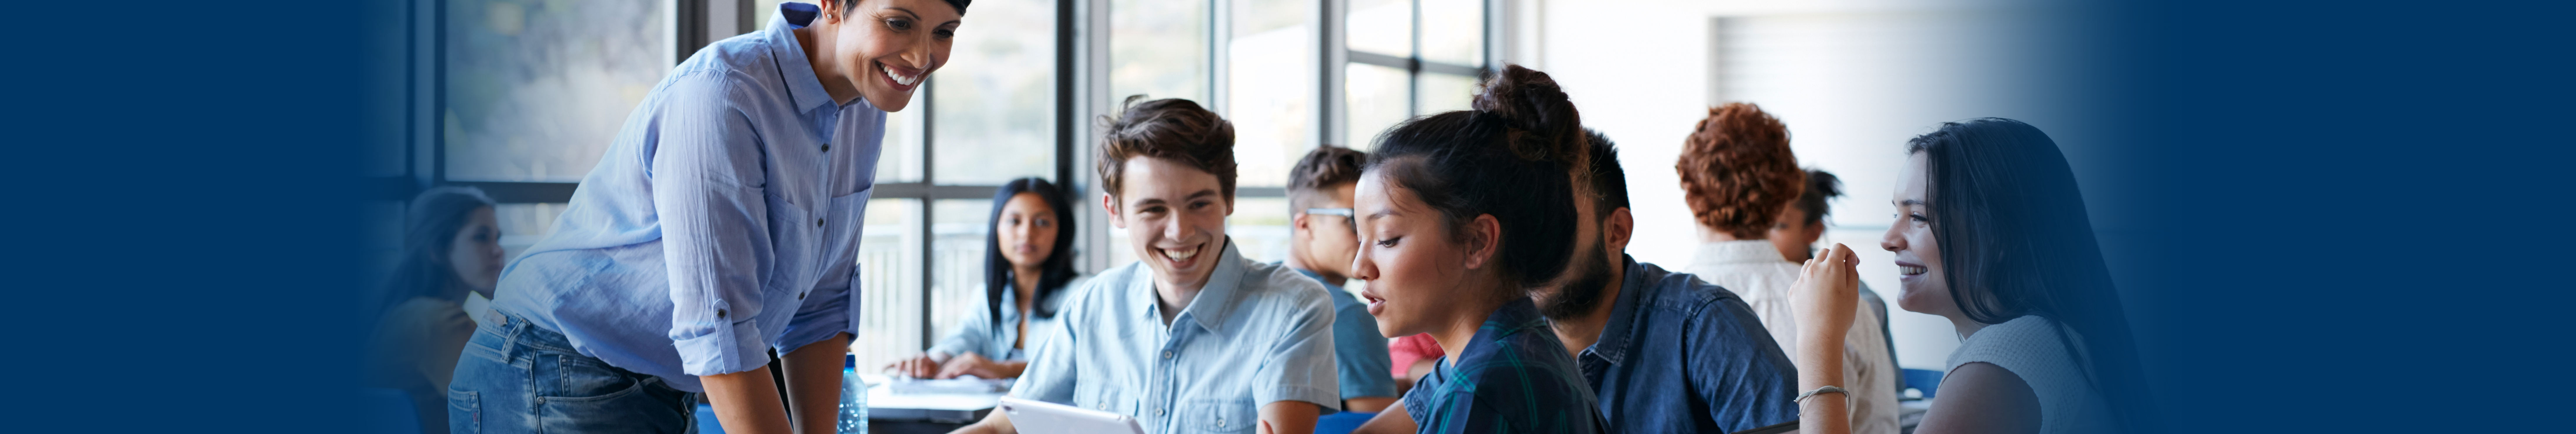
[[[1700,249],[1682,272],[1734,290],[1780,349],[1795,349],[1798,318],[1788,295],[1798,265],[1767,241],[1780,211],[1806,193],[1806,169],[1798,169],[1798,154],[1788,149],[1788,126],[1749,103],[1708,108],[1672,169],[1682,175],[1682,198],[1700,223]],[[1842,385],[1852,388],[1850,426],[1860,434],[1899,431],[1899,372],[1886,342],[1878,316],[1852,316]]]

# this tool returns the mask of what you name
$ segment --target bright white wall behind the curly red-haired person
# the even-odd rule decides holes
[[[1788,0],[1522,0],[1540,13],[1538,46],[1515,62],[1553,74],[1584,123],[1620,144],[1638,234],[1695,234],[1672,164],[1713,95],[1762,105],[1790,126],[1798,162],[1837,172],[1826,241],[1862,254],[1862,282],[1896,306],[1896,267],[1878,249],[1904,141],[1942,121],[2020,118],[2053,128],[2063,110],[2020,92],[2038,82],[2027,15],[1994,3]],[[1728,18],[1713,31],[1713,18]],[[1713,36],[1723,33],[1723,36]],[[1726,41],[1723,46],[1716,41]],[[1520,39],[1528,41],[1528,39]],[[1713,54],[1718,51],[1718,54]],[[1710,67],[1721,56],[1726,67]],[[1721,77],[1721,80],[1713,80]],[[1723,85],[1713,85],[1723,82]],[[2071,126],[2069,126],[2071,128]],[[2069,154],[2079,154],[2069,149]],[[2076,167],[2084,172],[2084,164]],[[1641,262],[1687,265],[1695,236],[1641,236]],[[1899,362],[1940,370],[1958,336],[1940,316],[1891,311]]]

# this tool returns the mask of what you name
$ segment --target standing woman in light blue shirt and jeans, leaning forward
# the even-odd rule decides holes
[[[832,431],[886,113],[963,13],[781,3],[765,31],[680,62],[502,272],[448,385],[451,431],[688,431],[701,393],[724,431]]]

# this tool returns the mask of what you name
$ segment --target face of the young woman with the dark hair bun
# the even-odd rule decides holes
[[[1352,195],[1360,223],[1360,252],[1350,277],[1368,280],[1360,298],[1386,336],[1435,331],[1443,311],[1473,306],[1468,244],[1461,244],[1448,216],[1422,203],[1414,190],[1386,182],[1381,172],[1360,175]]]

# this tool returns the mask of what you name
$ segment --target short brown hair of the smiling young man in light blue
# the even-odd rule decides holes
[[[1126,162],[1139,157],[1172,159],[1216,175],[1226,203],[1234,203],[1234,123],[1198,103],[1131,95],[1126,110],[1100,118],[1100,187],[1118,195]]]

